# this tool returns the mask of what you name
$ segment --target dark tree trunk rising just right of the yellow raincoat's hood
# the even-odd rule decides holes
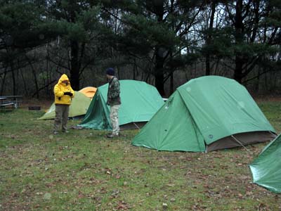
[[[75,91],[79,90],[79,60],[78,60],[78,54],[79,54],[79,44],[77,41],[70,41],[70,48],[71,48],[71,68],[70,68],[70,82],[71,87]]]

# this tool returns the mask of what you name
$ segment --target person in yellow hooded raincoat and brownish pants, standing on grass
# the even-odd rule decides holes
[[[70,112],[70,104],[74,98],[74,91],[70,86],[70,80],[67,75],[63,74],[53,88],[55,94],[55,124],[53,133],[58,134],[62,127],[63,132],[67,131],[67,120]]]

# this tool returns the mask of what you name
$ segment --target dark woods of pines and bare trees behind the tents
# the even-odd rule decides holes
[[[52,94],[139,79],[169,96],[188,79],[230,77],[252,91],[281,87],[280,1],[0,0],[0,95]]]

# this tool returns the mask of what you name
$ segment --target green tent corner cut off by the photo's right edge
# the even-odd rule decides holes
[[[281,134],[266,146],[251,165],[253,181],[275,193],[281,193]]]

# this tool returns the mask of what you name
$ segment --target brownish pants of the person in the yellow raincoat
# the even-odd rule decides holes
[[[62,127],[63,132],[67,130],[68,113],[70,112],[69,105],[55,105],[55,124],[54,132],[58,132]]]

